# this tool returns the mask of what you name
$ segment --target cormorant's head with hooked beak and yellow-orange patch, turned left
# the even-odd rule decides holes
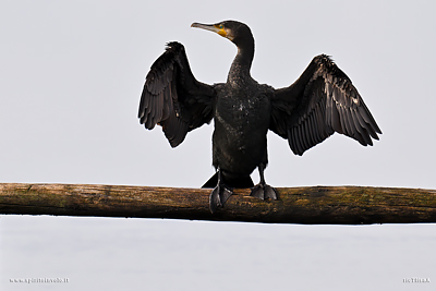
[[[219,34],[233,41],[237,46],[253,39],[250,27],[238,21],[223,21],[216,24],[193,23],[191,27],[203,28]]]

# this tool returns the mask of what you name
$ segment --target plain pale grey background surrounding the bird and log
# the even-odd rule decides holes
[[[237,49],[193,22],[238,20],[252,75],[284,87],[319,53],[351,77],[384,132],[336,134],[296,157],[268,135],[274,186],[436,189],[434,1],[0,2],[0,182],[198,187],[213,124],[172,149],[136,119],[165,44],[225,82]],[[258,182],[257,171],[253,174]],[[0,216],[1,290],[435,290],[435,225],[295,226]],[[65,284],[11,278],[69,278]],[[431,283],[403,283],[404,278]]]

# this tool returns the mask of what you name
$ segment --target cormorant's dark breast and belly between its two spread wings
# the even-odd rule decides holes
[[[214,165],[250,174],[266,162],[270,101],[258,89],[221,90],[215,106]]]

